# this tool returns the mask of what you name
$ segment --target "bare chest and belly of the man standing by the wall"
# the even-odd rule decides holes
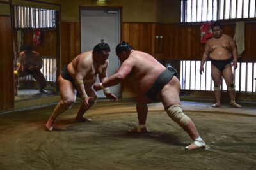
[[[223,34],[221,38],[212,37],[209,39],[209,58],[213,60],[228,60],[232,57],[233,39],[227,34]]]

